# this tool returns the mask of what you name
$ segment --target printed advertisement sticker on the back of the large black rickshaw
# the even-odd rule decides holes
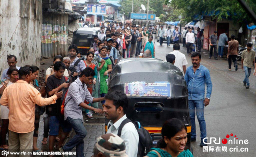
[[[134,81],[124,83],[124,92],[127,96],[142,97],[142,96],[171,96],[170,82],[154,82],[146,83],[143,81]]]

